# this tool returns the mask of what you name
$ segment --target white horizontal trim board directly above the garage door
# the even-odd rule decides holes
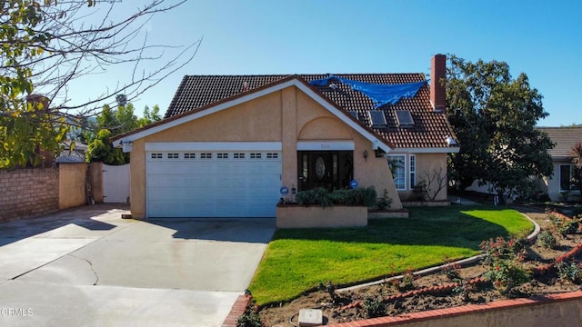
[[[281,151],[280,142],[150,142],[146,151]]]

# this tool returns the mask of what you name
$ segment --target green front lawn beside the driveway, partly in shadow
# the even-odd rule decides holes
[[[490,237],[525,234],[521,213],[488,206],[418,207],[367,227],[278,230],[249,289],[257,304],[285,302],[319,282],[338,285],[419,270],[479,252]]]

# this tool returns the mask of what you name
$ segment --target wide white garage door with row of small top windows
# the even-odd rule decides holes
[[[149,151],[149,217],[275,217],[281,153]]]

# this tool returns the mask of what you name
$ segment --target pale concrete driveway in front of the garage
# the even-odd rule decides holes
[[[220,326],[274,219],[121,219],[85,206],[0,224],[0,325]]]

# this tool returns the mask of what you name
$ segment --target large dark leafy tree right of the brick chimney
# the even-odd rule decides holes
[[[514,79],[505,62],[468,62],[455,55],[447,65],[447,117],[461,147],[450,156],[450,178],[461,189],[490,183],[501,197],[527,193],[532,176],[551,175],[547,150],[554,144],[535,129],[547,116],[542,95],[526,74]]]

